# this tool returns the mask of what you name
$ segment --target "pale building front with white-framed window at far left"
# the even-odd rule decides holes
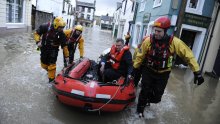
[[[31,1],[0,0],[0,36],[31,32]]]

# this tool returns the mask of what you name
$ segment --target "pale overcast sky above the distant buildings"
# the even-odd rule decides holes
[[[94,0],[79,0],[82,2],[91,2]],[[110,16],[113,16],[114,11],[117,7],[117,2],[122,2],[122,0],[96,0],[96,12],[95,15],[101,16],[106,15],[107,13]]]

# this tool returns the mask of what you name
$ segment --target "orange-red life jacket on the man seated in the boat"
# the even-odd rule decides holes
[[[113,45],[111,47],[110,58],[109,58],[108,62],[111,63],[111,66],[113,69],[117,70],[119,68],[122,56],[127,50],[129,50],[128,46],[124,46],[120,52],[116,51],[115,45]]]

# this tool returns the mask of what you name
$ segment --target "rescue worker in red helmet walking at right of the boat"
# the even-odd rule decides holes
[[[137,54],[133,64],[134,70],[144,63],[142,70],[142,88],[138,98],[137,113],[143,117],[145,106],[161,101],[164,89],[171,72],[173,54],[176,53],[185,60],[194,72],[194,83],[201,85],[204,79],[199,65],[191,49],[179,38],[167,35],[170,19],[162,16],[154,22],[154,33],[142,44],[141,52]]]

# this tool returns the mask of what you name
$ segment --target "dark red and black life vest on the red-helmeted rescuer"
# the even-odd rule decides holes
[[[172,66],[173,55],[170,53],[169,47],[173,41],[173,35],[168,36],[164,41],[159,43],[152,35],[150,35],[151,48],[146,54],[147,66],[160,71],[168,69]]]

